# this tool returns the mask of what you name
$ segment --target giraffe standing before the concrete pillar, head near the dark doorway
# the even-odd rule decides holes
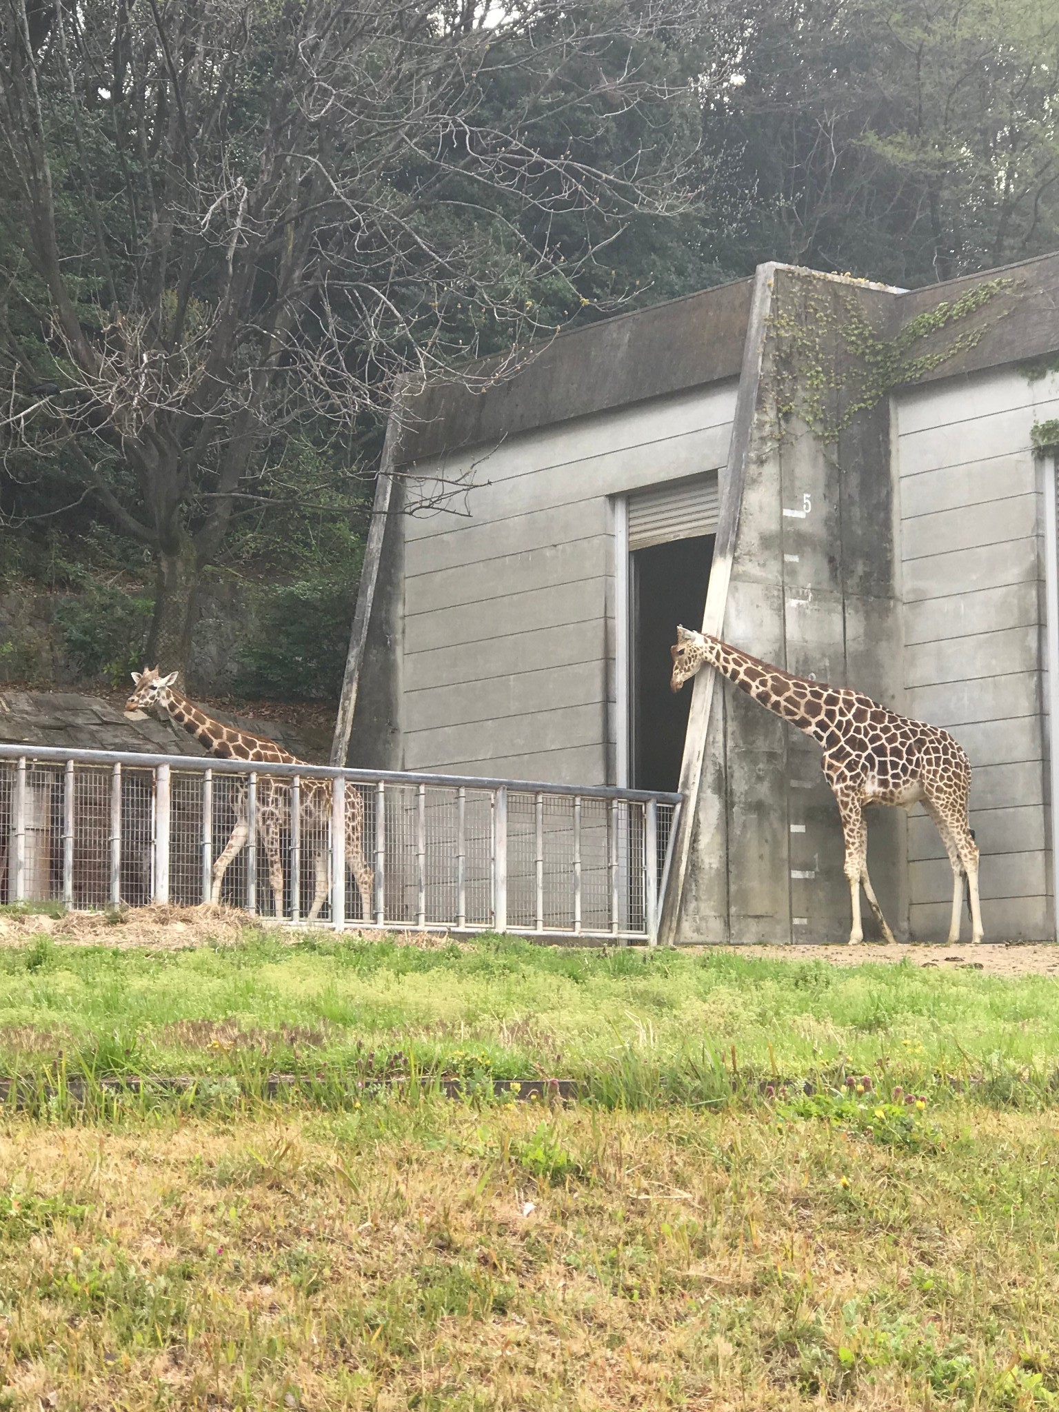
[[[700,666],[713,666],[765,710],[796,726],[823,747],[823,772],[839,803],[846,840],[844,871],[853,908],[850,945],[864,939],[861,887],[882,936],[887,942],[894,940],[868,878],[864,809],[873,803],[909,806],[918,801],[938,826],[952,864],[949,945],[960,939],[964,874],[970,894],[971,942],[981,940],[979,849],[967,822],[970,764],[947,730],[898,716],[850,688],[792,676],[706,633],[678,627],[676,645],[671,652],[674,671],[669,685],[675,692]]]

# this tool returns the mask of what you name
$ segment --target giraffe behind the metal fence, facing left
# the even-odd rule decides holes
[[[267,736],[254,736],[249,730],[239,730],[236,726],[226,726],[213,720],[203,710],[189,702],[186,696],[174,690],[178,674],[169,672],[161,676],[158,668],[144,668],[143,672],[133,672],[136,690],[126,702],[126,712],[147,710],[152,714],[167,716],[178,726],[193,736],[206,747],[210,755],[219,760],[256,760],[274,765],[304,765],[306,761],[298,760],[289,751],[277,746]],[[321,844],[316,847],[313,864],[316,871],[316,885],[309,908],[308,921],[313,922],[319,916],[323,901],[328,895],[328,844],[326,829],[330,822],[332,792],[329,779],[306,778],[301,781],[301,818],[304,822],[316,820]],[[264,775],[258,781],[257,794],[257,830],[264,843],[268,858],[268,881],[271,882],[275,899],[275,915],[284,915],[284,870],[280,856],[280,834],[284,819],[291,812],[291,784],[287,778]],[[243,791],[236,810],[236,826],[225,846],[225,851],[213,864],[213,887],[210,901],[216,907],[220,902],[220,890],[225,874],[232,863],[246,847],[250,836],[250,819],[247,816],[247,796]],[[361,916],[371,915],[371,884],[373,871],[364,861],[364,801],[360,791],[353,788],[346,792],[346,860],[360,891]]]

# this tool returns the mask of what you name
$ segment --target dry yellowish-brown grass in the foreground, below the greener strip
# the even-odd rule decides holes
[[[908,1151],[774,1110],[8,1120],[0,1398],[1052,1406],[1056,1132],[940,1123]]]

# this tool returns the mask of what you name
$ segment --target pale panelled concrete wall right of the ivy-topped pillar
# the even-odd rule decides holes
[[[1048,808],[1045,559],[1035,421],[1059,378],[1012,366],[894,400],[907,709],[952,730],[973,770],[988,938],[1055,936]],[[933,823],[908,825],[912,936],[945,935],[952,874]]]

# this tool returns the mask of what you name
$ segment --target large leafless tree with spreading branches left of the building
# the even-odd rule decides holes
[[[284,438],[504,376],[681,205],[683,3],[0,0],[4,449],[150,554],[152,662]]]

